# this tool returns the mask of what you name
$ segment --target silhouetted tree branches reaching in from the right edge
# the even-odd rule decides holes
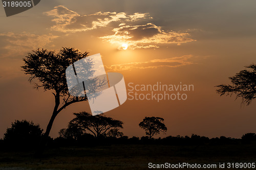
[[[242,102],[249,105],[256,98],[256,65],[251,64],[245,67],[249,70],[241,70],[235,76],[229,77],[231,85],[221,84],[216,86],[218,87],[217,93],[230,96],[234,93],[236,99],[242,98]]]

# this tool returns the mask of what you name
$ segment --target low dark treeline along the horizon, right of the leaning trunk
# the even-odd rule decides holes
[[[92,145],[111,145],[111,144],[162,144],[162,145],[219,145],[219,144],[248,144],[252,141],[256,141],[255,133],[247,133],[243,135],[242,139],[230,138],[230,137],[216,137],[208,138],[205,136],[199,136],[192,134],[189,136],[167,136],[164,138],[148,138],[147,136],[142,137],[128,137],[121,136],[118,138],[102,136],[95,138],[91,134],[85,134],[75,139],[65,139],[63,137],[57,137],[51,140],[52,147],[68,147],[68,146],[92,146]]]

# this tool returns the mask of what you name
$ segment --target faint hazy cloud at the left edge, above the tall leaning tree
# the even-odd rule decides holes
[[[58,36],[49,35],[36,35],[27,32],[22,33],[1,33],[1,58],[8,57],[10,55],[19,55],[24,52],[41,48],[51,43],[53,39]]]

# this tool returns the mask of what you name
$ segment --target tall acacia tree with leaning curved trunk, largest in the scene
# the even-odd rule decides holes
[[[29,53],[28,56],[23,58],[25,64],[22,68],[26,75],[31,75],[29,82],[33,83],[34,87],[37,89],[43,88],[45,91],[51,91],[55,99],[55,106],[46,132],[42,138],[40,145],[41,151],[39,151],[39,153],[41,153],[45,147],[46,140],[49,137],[57,114],[73,103],[87,100],[86,96],[78,97],[69,94],[66,81],[66,68],[75,61],[87,57],[88,54],[88,52],[81,53],[75,48],[67,47],[62,47],[58,53],[44,49],[39,50],[38,48],[36,51],[32,51],[32,53]],[[93,65],[91,64],[91,67],[89,65],[87,68],[90,70],[93,68]]]

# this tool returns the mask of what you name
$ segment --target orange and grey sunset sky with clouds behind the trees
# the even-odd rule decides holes
[[[131,100],[104,113],[121,120],[124,135],[141,137],[145,116],[164,118],[166,134],[235,137],[256,132],[256,103],[241,104],[219,96],[216,87],[230,83],[244,66],[255,63],[255,1],[66,1],[44,0],[6,17],[0,7],[0,138],[15,120],[27,119],[46,129],[54,96],[36,90],[22,71],[32,50],[74,47],[101,54],[106,72],[120,72],[131,95],[152,93],[131,86],[193,85],[179,91],[186,100]],[[128,45],[127,50],[122,44]],[[129,86],[130,83],[130,86]],[[153,91],[164,93],[164,91]],[[166,91],[169,94],[177,91]],[[88,102],[61,111],[50,136],[67,128],[74,112],[90,112]]]

